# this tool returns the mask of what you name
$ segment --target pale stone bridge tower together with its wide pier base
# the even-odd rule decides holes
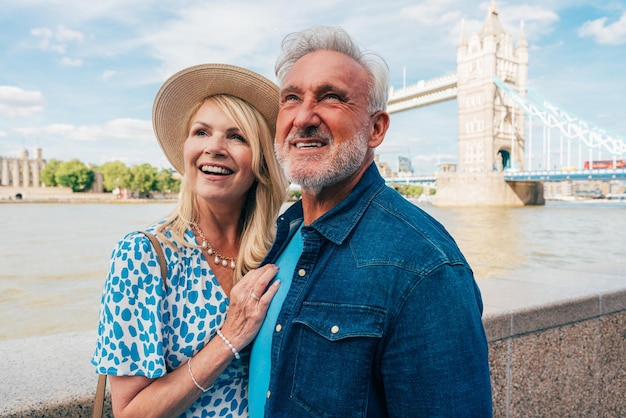
[[[526,91],[528,43],[521,24],[517,45],[492,0],[481,30],[457,46],[459,160],[437,175],[436,206],[542,205],[543,184],[506,181],[504,169],[524,169],[524,114],[495,84]]]

